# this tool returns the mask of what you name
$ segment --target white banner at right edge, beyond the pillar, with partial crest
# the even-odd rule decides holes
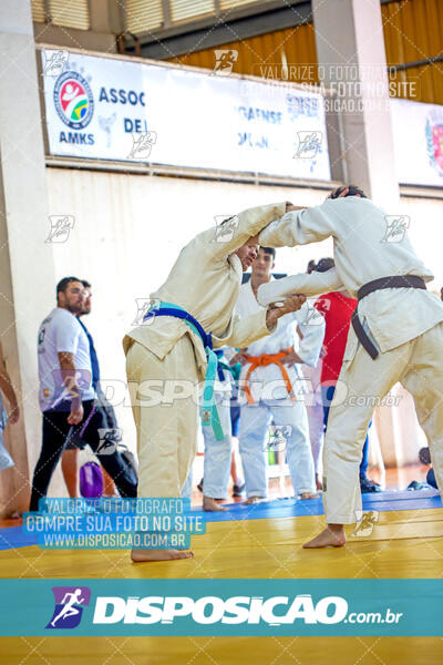
[[[392,100],[399,183],[443,186],[443,106]]]

